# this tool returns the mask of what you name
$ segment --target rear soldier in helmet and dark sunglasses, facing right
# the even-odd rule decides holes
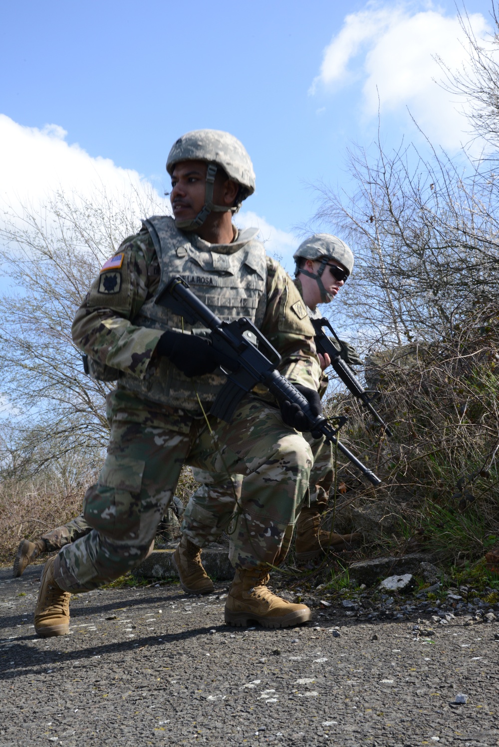
[[[318,303],[329,303],[344,285],[353,270],[353,254],[341,239],[329,234],[315,234],[300,244],[294,254],[297,263],[295,285],[306,303],[309,317],[319,312]],[[322,314],[319,314],[321,317]],[[356,351],[341,343],[341,356],[349,365],[362,363]],[[331,363],[329,356],[319,356],[324,370]],[[320,396],[326,392],[328,377],[320,381]],[[303,506],[297,521],[296,551],[298,560],[313,560],[329,550],[338,552],[360,539],[358,533],[339,535],[320,530],[320,515],[326,509],[334,480],[333,453],[330,444],[304,434],[314,454],[310,474],[309,503]],[[214,587],[201,562],[201,548],[216,542],[227,531],[238,512],[242,476],[228,480],[223,474],[193,470],[201,486],[187,503],[182,521],[182,539],[173,555],[182,588],[191,594],[207,594]]]

